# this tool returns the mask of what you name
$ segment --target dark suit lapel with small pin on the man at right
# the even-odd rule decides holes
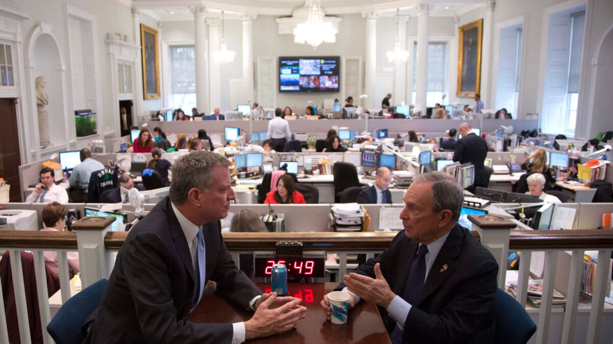
[[[460,249],[462,248],[463,241],[462,229],[459,225],[455,227],[447,236],[447,240],[441,247],[440,252],[436,256],[428,277],[425,280],[424,288],[421,294],[417,297],[417,304],[419,305],[428,295],[438,288],[441,283],[447,278],[447,275],[455,268],[454,259],[460,255]],[[444,267],[444,266],[447,267]]]

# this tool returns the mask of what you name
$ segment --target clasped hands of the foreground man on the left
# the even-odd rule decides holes
[[[277,299],[276,293],[264,294],[264,296],[261,297],[264,301],[256,302],[257,308],[253,317],[245,321],[245,339],[267,337],[268,335],[289,331],[294,328],[300,319],[305,317],[307,307],[298,305],[300,299],[283,297],[283,299],[291,298],[292,300],[285,302],[280,307],[272,308]]]

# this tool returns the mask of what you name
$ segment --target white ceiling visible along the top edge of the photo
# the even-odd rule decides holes
[[[126,0],[124,0],[126,1]],[[159,21],[193,20],[189,7],[204,6],[207,17],[219,18],[221,10],[228,19],[238,13],[290,16],[294,10],[305,6],[304,0],[127,0],[133,7]],[[308,0],[307,0],[308,1]],[[392,17],[400,8],[400,15],[417,15],[416,6],[421,0],[320,0],[326,15],[379,12],[382,17]],[[431,17],[453,17],[482,6],[484,0],[430,0]]]

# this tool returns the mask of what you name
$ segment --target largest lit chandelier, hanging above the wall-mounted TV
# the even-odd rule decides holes
[[[300,23],[294,29],[294,43],[308,43],[317,48],[321,43],[337,41],[337,29],[330,21],[324,21],[326,14],[321,9],[319,0],[312,0],[308,9],[307,21]]]

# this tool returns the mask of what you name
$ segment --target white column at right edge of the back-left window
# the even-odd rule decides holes
[[[207,25],[204,6],[191,7],[194,13],[194,60],[196,67],[196,107],[200,113],[208,114],[208,49]]]

